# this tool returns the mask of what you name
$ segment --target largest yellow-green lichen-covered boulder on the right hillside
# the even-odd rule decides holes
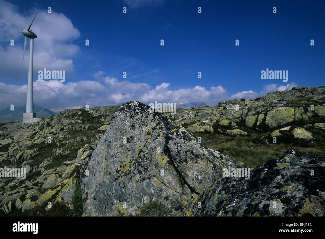
[[[294,120],[293,107],[279,107],[269,111],[265,123],[271,128],[285,125]]]

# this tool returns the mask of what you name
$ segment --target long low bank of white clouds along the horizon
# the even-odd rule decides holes
[[[132,83],[128,80],[119,81],[117,78],[106,76],[104,72],[97,72],[94,80],[78,82],[60,82],[59,80],[34,81],[34,104],[49,109],[64,110],[76,108],[80,105],[89,107],[117,105],[131,100],[146,104],[154,102],[204,102],[208,105],[216,105],[221,100],[241,98],[255,99],[266,95],[268,92],[288,90],[297,86],[294,82],[286,86],[269,84],[259,92],[252,90],[238,92],[230,95],[222,86],[213,86],[206,89],[202,86],[194,88],[169,90],[169,83],[162,83],[155,87],[147,83]],[[21,106],[26,104],[27,85],[15,86],[0,82],[0,104],[4,109],[11,104]],[[230,96],[229,96],[230,95]]]

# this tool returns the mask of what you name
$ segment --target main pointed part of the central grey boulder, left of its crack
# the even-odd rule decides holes
[[[151,200],[180,206],[182,185],[165,147],[170,128],[148,105],[131,101],[119,108],[83,167],[86,216],[134,214]]]

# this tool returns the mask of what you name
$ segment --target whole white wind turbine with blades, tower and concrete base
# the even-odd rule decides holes
[[[41,7],[40,7],[41,8]],[[33,46],[34,46],[34,38],[37,38],[37,35],[30,31],[29,29],[32,26],[32,23],[40,10],[38,8],[31,24],[27,28],[27,30],[23,30],[21,28],[21,32],[25,36],[25,42],[24,42],[24,53],[22,56],[22,63],[24,63],[24,55],[25,55],[25,48],[27,43],[27,37],[31,39],[31,44],[29,48],[29,67],[28,67],[28,82],[27,82],[27,101],[26,101],[26,113],[23,113],[23,123],[32,123],[41,120],[42,118],[37,118],[36,114],[33,112],[34,110],[34,102],[33,102]]]

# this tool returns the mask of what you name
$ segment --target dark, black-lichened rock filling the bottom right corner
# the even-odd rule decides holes
[[[325,216],[325,157],[292,150],[224,177],[174,216]],[[201,207],[198,206],[200,203]]]

